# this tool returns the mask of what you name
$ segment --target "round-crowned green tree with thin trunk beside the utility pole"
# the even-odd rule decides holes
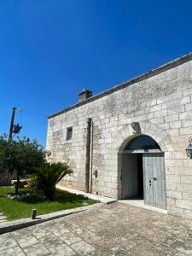
[[[46,151],[36,140],[27,137],[7,139],[0,137],[0,171],[16,172],[15,194],[18,194],[20,176],[34,172],[36,166],[45,162]]]

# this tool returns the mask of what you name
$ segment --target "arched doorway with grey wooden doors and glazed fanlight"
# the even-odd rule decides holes
[[[166,208],[164,153],[152,137],[133,137],[122,152],[122,199],[143,199],[152,207]]]

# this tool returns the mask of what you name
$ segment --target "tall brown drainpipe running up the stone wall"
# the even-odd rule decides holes
[[[89,193],[90,187],[90,129],[91,119],[87,119],[86,148],[85,148],[85,192]]]

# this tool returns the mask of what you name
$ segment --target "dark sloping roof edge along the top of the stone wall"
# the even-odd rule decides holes
[[[54,118],[55,116],[60,115],[61,113],[66,113],[66,112],[68,112],[68,111],[70,111],[70,110],[72,110],[74,108],[79,108],[80,106],[83,106],[83,105],[88,104],[90,102],[94,102],[97,99],[102,98],[103,96],[107,96],[109,94],[112,94],[113,92],[115,92],[117,90],[122,90],[122,89],[130,86],[131,84],[135,84],[135,83],[141,82],[141,81],[143,81],[145,79],[153,77],[154,75],[157,75],[159,73],[165,72],[166,70],[172,69],[173,67],[180,66],[183,63],[186,63],[186,62],[191,61],[191,60],[192,60],[192,52],[190,52],[187,55],[183,55],[183,56],[181,56],[181,57],[179,57],[179,58],[177,58],[177,59],[175,59],[173,61],[170,61],[170,62],[168,62],[168,63],[166,63],[164,65],[161,65],[160,67],[151,69],[147,73],[143,73],[143,74],[137,76],[134,79],[130,79],[130,80],[124,82],[124,83],[118,84],[118,85],[112,87],[111,89],[104,90],[101,93],[96,94],[95,96],[90,97],[89,99],[85,100],[84,102],[79,102],[79,103],[77,103],[77,104],[75,104],[73,106],[70,106],[68,108],[65,108],[65,109],[63,109],[63,110],[61,110],[59,112],[53,113],[53,114],[48,116],[48,119]]]

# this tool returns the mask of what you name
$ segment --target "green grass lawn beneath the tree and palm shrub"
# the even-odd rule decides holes
[[[37,209],[37,214],[40,215],[82,207],[83,201],[88,205],[96,203],[96,201],[83,195],[71,194],[61,189],[56,189],[54,201],[48,201],[42,191],[37,189],[20,189],[20,194],[30,195],[23,199],[9,199],[7,195],[14,192],[15,189],[13,187],[0,187],[0,212],[3,212],[8,220],[29,218],[32,208]]]

